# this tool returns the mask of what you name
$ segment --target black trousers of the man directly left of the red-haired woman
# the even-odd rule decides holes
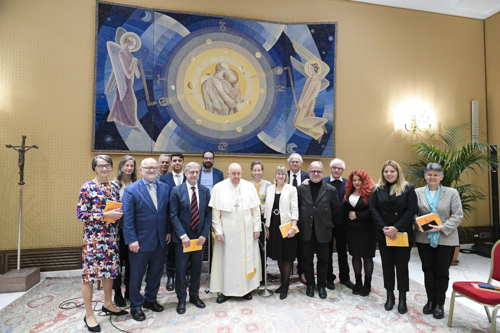
[[[331,242],[328,245],[328,271],[326,281],[333,282],[336,278],[333,274],[333,244],[336,243],[338,257],[338,280],[340,282],[350,281],[349,264],[347,262],[347,242],[345,240],[345,224],[334,224]]]

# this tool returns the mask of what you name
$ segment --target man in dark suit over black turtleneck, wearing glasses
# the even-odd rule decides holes
[[[314,252],[317,263],[317,289],[320,298],[326,298],[326,269],[328,266],[328,244],[332,238],[333,219],[338,212],[338,196],[335,188],[321,181],[323,165],[314,161],[309,165],[310,181],[297,187],[298,237],[302,241],[302,266],[307,290],[305,294],[314,296]]]

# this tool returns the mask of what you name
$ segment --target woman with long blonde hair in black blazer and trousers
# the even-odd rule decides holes
[[[375,238],[382,260],[383,287],[387,290],[387,300],[384,305],[386,311],[392,310],[394,306],[394,267],[399,291],[397,311],[400,314],[407,311],[408,262],[413,242],[412,223],[417,208],[415,188],[404,180],[399,164],[390,160],[383,163],[380,179],[370,195],[369,209],[375,224]],[[397,232],[406,233],[408,246],[386,245],[385,237],[395,240]]]

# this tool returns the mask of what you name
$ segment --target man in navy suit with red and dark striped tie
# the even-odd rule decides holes
[[[191,247],[191,240],[197,239],[196,245],[202,246],[212,223],[212,209],[208,207],[210,190],[197,183],[200,169],[196,162],[187,163],[184,170],[187,182],[174,187],[170,195],[172,244],[175,248],[175,294],[178,299],[177,313],[180,315],[186,311],[185,276],[188,263],[191,265],[189,303],[200,309],[205,307],[198,295],[203,248],[183,252],[183,248]]]

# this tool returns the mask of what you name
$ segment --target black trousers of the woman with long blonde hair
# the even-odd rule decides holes
[[[409,291],[408,262],[411,246],[387,246],[385,241],[377,240],[380,259],[382,260],[383,288],[394,290],[394,278],[397,278],[397,290]],[[396,275],[394,277],[394,267]]]

